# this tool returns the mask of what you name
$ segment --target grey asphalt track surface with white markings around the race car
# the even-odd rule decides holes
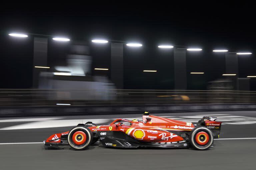
[[[5,169],[256,169],[256,112],[200,112],[171,113],[157,116],[226,115],[233,122],[222,125],[221,139],[214,140],[214,147],[206,151],[189,149],[117,149],[98,147],[75,151],[69,146],[44,147],[43,143],[10,144],[15,142],[42,142],[53,133],[71,127],[31,128],[31,121],[0,119],[0,170]],[[156,114],[154,114],[156,115]],[[232,118],[232,116],[234,118]],[[133,118],[139,115],[71,116],[63,120]],[[222,116],[223,120],[225,116]],[[242,122],[247,124],[239,124]],[[39,119],[39,118],[36,118]],[[2,122],[1,122],[2,121]],[[221,121],[221,119],[219,120]],[[224,121],[225,122],[225,121]],[[51,123],[51,122],[50,122]],[[10,129],[27,124],[27,129]],[[48,124],[47,124],[48,125]],[[37,126],[37,124],[33,124]],[[38,124],[38,126],[41,126]],[[7,128],[7,129],[5,129]],[[19,128],[19,127],[18,127]],[[2,129],[2,130],[1,130]],[[243,139],[251,137],[253,139]],[[229,139],[227,138],[239,138]],[[9,144],[1,144],[9,143]]]

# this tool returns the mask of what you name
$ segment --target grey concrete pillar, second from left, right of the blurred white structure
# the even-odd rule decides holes
[[[111,80],[117,89],[124,87],[123,44],[111,43]]]

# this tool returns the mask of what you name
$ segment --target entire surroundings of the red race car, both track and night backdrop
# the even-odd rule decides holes
[[[253,2],[0,5],[0,170],[255,169]],[[88,121],[222,122],[209,150],[44,148]]]

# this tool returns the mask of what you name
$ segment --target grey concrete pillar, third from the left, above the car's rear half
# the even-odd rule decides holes
[[[186,49],[174,48],[174,88],[187,89]]]

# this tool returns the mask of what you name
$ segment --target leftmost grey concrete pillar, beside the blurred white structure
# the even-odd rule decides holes
[[[35,66],[47,66],[47,38],[34,37],[34,57],[33,57],[33,88],[38,88],[38,78],[45,68],[35,68]]]

